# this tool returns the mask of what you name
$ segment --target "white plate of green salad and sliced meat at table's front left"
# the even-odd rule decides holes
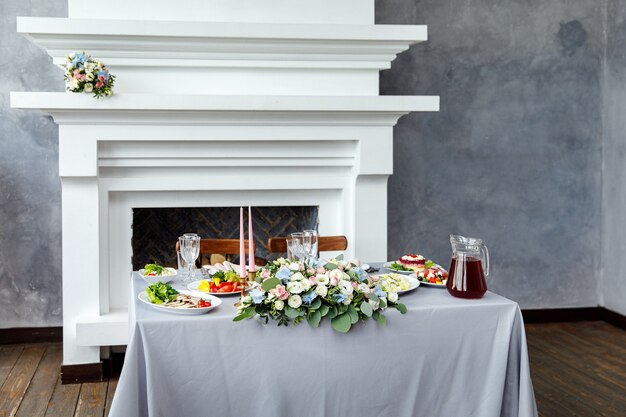
[[[222,304],[222,300],[212,295],[178,291],[164,282],[148,285],[137,298],[157,310],[188,316],[206,314]]]

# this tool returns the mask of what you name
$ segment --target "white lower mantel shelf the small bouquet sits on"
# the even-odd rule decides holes
[[[95,99],[87,94],[55,92],[12,92],[11,106],[39,109],[59,124],[87,121],[127,124],[142,120],[149,124],[215,124],[222,117],[239,124],[297,123],[318,120],[341,124],[394,125],[412,111],[438,111],[438,96],[215,96],[169,94],[117,94]],[[123,113],[124,117],[119,117]],[[252,117],[251,115],[255,115]],[[343,116],[342,116],[343,115]],[[329,120],[328,117],[332,117]],[[217,118],[217,119],[216,119]],[[150,122],[152,120],[152,122]]]

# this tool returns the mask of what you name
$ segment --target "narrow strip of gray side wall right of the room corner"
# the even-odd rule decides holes
[[[604,96],[602,297],[626,315],[626,4],[610,0]]]

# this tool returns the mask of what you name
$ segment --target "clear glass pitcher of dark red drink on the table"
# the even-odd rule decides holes
[[[452,262],[446,287],[460,298],[480,298],[487,291],[489,251],[482,239],[450,235]]]

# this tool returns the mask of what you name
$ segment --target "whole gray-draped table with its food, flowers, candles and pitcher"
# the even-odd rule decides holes
[[[487,291],[479,239],[451,236],[447,271],[415,254],[323,259],[316,235],[296,232],[286,258],[256,266],[243,209],[240,223],[237,265],[194,269],[181,242],[184,275],[133,273],[111,416],[537,415],[522,316]],[[237,287],[219,293],[222,282]],[[166,310],[185,297],[195,304]]]

